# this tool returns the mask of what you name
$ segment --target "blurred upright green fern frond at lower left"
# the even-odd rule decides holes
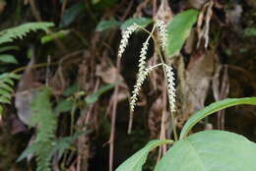
[[[36,171],[50,171],[57,117],[54,115],[50,103],[51,91],[48,87],[41,87],[32,102],[32,122],[37,125],[34,143],[38,144],[35,151]]]

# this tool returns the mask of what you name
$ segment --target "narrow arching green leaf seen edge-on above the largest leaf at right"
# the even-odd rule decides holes
[[[238,105],[238,104],[253,104],[256,105],[256,97],[248,97],[248,98],[226,98],[221,101],[217,101],[212,103],[211,105],[205,107],[204,109],[196,112],[192,115],[189,120],[186,122],[185,126],[181,130],[179,139],[184,139],[188,132],[192,129],[194,125],[196,125],[203,118],[211,115],[219,110],[222,110],[226,107]]]

